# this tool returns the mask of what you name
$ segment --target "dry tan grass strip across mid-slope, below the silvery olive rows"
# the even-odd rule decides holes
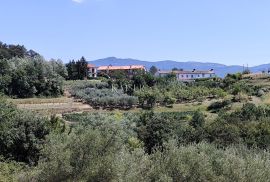
[[[143,112],[141,108],[134,108],[130,110],[103,110],[92,109],[89,105],[81,102],[75,102],[72,98],[31,98],[31,99],[8,99],[10,102],[17,105],[21,109],[29,109],[45,114],[61,114],[66,112]],[[204,101],[202,103],[185,103],[174,104],[173,107],[155,107],[155,112],[185,112],[201,110],[206,111],[207,106],[211,101]]]

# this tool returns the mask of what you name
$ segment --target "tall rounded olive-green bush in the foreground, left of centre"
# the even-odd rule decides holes
[[[124,139],[121,125],[108,120],[95,127],[77,126],[69,135],[50,135],[35,178],[38,181],[116,180],[116,163],[125,152]]]

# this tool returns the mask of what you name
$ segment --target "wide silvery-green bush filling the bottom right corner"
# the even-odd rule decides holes
[[[169,144],[152,156],[149,181],[267,181],[268,157],[241,146],[223,150],[207,143]]]

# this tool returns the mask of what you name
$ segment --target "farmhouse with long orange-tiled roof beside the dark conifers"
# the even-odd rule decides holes
[[[136,71],[146,71],[143,65],[129,65],[129,66],[99,66],[88,64],[88,75],[89,77],[97,77],[98,74],[110,75],[114,71],[124,71],[126,74],[132,76]]]

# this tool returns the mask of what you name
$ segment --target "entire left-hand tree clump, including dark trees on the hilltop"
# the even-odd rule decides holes
[[[67,77],[61,60],[45,61],[21,45],[0,42],[0,92],[10,97],[60,96]]]

